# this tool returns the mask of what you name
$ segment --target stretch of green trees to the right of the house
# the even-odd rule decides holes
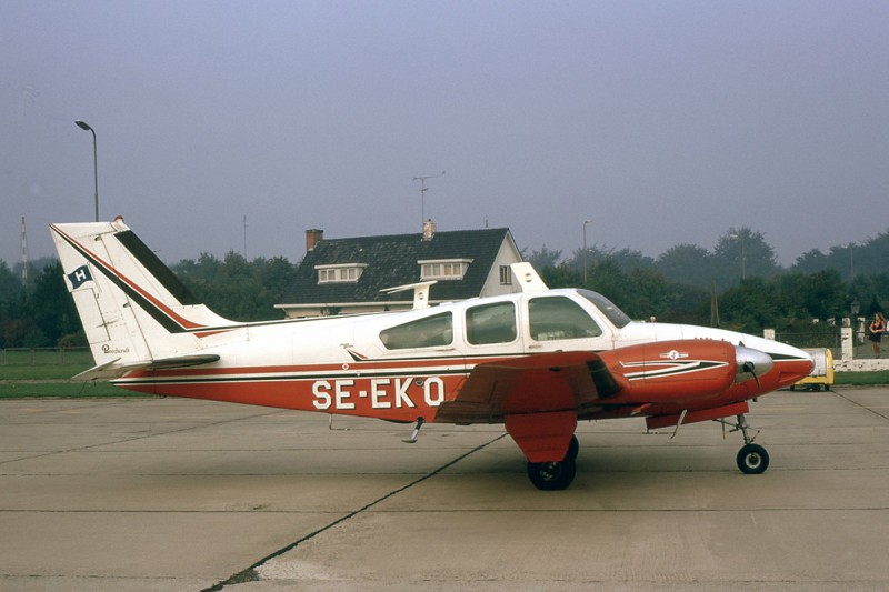
[[[763,328],[806,331],[816,320],[885,311],[888,253],[889,231],[828,253],[809,251],[782,268],[761,233],[740,228],[723,234],[712,251],[678,244],[651,258],[595,247],[562,259],[560,251],[543,247],[527,259],[543,270],[550,287],[601,292],[633,319],[655,317],[759,333]]]

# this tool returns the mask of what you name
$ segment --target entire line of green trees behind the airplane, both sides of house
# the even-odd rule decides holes
[[[730,229],[712,251],[678,244],[657,258],[630,249],[593,247],[562,258],[546,247],[526,253],[551,288],[583,287],[608,297],[633,319],[719,324],[749,333],[763,328],[802,331],[821,321],[885,311],[889,298],[889,232],[828,253],[810,251],[790,268],[749,228]],[[192,293],[219,314],[242,320],[280,319],[296,264],[286,258],[248,261],[230,251],[202,253],[171,265]],[[84,345],[86,339],[61,264],[34,261],[22,281],[20,265],[0,261],[0,348]],[[586,271],[586,272],[585,272]]]

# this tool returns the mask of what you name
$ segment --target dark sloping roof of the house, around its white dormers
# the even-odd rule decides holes
[[[306,253],[281,303],[412,301],[411,291],[390,294],[380,290],[419,282],[418,261],[434,259],[471,259],[472,263],[462,281],[439,280],[432,285],[430,301],[477,297],[488,279],[500,245],[509,235],[509,229],[497,228],[437,232],[426,241],[419,233],[324,239]],[[367,268],[357,282],[318,283],[316,265],[344,263],[364,263]]]

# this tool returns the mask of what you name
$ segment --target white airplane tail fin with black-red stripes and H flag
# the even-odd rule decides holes
[[[50,229],[96,360],[79,378],[218,360],[201,338],[237,323],[198,303],[122,219]]]

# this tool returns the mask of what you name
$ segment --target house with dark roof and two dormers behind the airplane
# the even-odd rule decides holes
[[[413,291],[388,288],[434,280],[429,304],[520,291],[511,263],[521,261],[509,229],[324,239],[306,231],[306,258],[274,308],[287,318],[353,314],[413,307]]]

